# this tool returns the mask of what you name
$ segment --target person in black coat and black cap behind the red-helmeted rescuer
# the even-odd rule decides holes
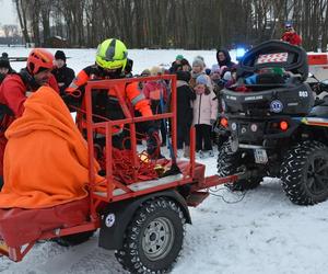
[[[62,50],[57,50],[55,54],[56,68],[52,70],[58,87],[60,89],[60,94],[66,94],[65,90],[70,85],[70,83],[75,78],[75,72],[66,65],[66,55]]]

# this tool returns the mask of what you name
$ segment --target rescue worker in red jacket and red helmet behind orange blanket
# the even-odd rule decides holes
[[[22,116],[24,102],[31,92],[42,85],[49,85],[59,92],[51,75],[52,66],[52,54],[43,48],[34,48],[27,57],[26,68],[20,73],[7,76],[0,87],[0,189],[3,184],[3,153],[7,145],[4,132],[14,119]]]

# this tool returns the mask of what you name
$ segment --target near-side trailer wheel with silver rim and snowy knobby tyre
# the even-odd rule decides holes
[[[139,207],[130,221],[118,262],[131,273],[165,273],[183,246],[185,216],[173,201],[156,198]]]

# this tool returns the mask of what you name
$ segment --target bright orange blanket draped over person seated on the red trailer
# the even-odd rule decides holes
[[[39,88],[24,106],[5,132],[0,208],[45,208],[84,198],[87,145],[68,107],[49,87]],[[103,180],[97,176],[96,183]]]

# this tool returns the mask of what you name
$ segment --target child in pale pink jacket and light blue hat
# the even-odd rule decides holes
[[[200,158],[213,157],[211,130],[218,116],[218,100],[214,92],[209,89],[208,76],[197,77],[195,91],[192,124],[196,128],[196,151]]]

